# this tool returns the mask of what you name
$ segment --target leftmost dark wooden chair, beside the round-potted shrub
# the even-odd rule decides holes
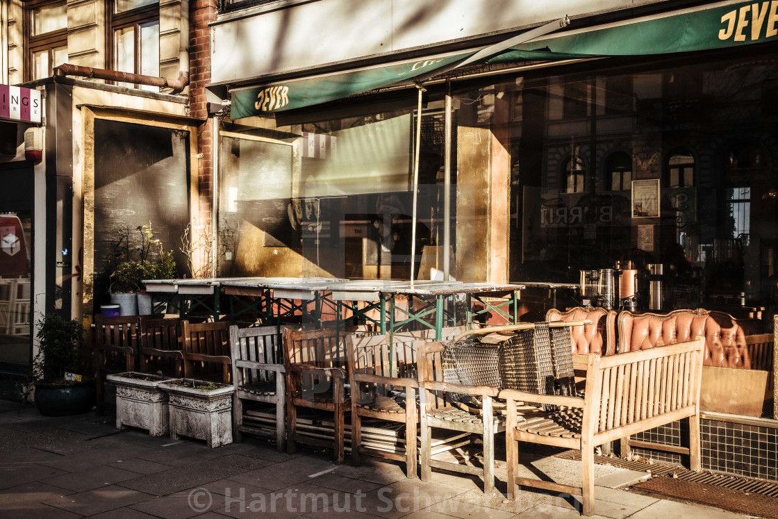
[[[97,412],[105,412],[107,371],[135,371],[138,357],[138,316],[103,317],[95,314],[94,366]]]

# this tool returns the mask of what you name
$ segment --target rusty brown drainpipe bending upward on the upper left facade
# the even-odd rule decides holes
[[[79,75],[89,79],[106,79],[107,81],[128,82],[136,85],[159,86],[160,88],[172,88],[172,93],[180,93],[189,84],[189,0],[181,0],[179,33],[179,72],[177,79],[172,81],[153,75],[131,74],[117,70],[107,70],[106,68],[82,67],[81,65],[72,65],[71,63],[54,67],[54,75]]]

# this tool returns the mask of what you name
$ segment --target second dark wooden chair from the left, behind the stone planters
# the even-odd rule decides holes
[[[138,370],[145,373],[162,371],[172,377],[184,377],[184,344],[180,318],[142,315],[140,335]]]

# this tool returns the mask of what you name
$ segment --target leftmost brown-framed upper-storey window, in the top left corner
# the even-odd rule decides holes
[[[27,6],[29,34],[28,79],[50,77],[54,67],[68,61],[68,12],[61,2],[33,2]]]

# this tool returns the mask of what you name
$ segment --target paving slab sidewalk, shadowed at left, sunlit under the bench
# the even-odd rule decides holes
[[[209,449],[199,440],[117,430],[110,410],[51,419],[32,405],[0,401],[0,517],[580,517],[578,502],[527,489],[505,500],[479,479],[433,472],[406,479],[404,464],[366,459],[334,465],[331,453],[275,451],[266,440]],[[535,471],[580,479],[580,463],[537,456]],[[595,510],[613,517],[744,517],[713,507],[620,490],[646,475],[597,468]]]

